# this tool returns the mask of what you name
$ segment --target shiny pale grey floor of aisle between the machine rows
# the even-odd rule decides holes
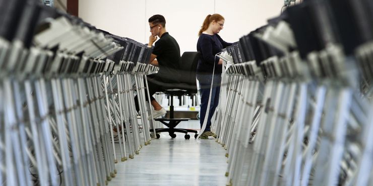
[[[179,128],[199,129],[198,120]],[[171,139],[161,133],[143,146],[134,159],[116,164],[117,174],[108,185],[225,185],[226,151],[215,139],[185,140],[179,133]]]

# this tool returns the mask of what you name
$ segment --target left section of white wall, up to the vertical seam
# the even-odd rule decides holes
[[[79,0],[79,17],[98,29],[144,42],[144,0]]]

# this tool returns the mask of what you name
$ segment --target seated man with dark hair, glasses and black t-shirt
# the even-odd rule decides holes
[[[159,37],[150,56],[150,64],[158,66],[159,71],[156,74],[147,76],[150,103],[154,107],[152,115],[153,118],[156,118],[165,115],[166,110],[159,105],[153,98],[153,95],[157,91],[163,91],[162,87],[165,83],[178,82],[180,73],[177,70],[180,67],[180,48],[176,40],[166,31],[166,20],[162,15],[154,15],[149,18],[149,26],[151,35],[148,47],[152,47],[153,43],[157,40],[157,36]],[[146,101],[148,101],[148,97],[146,97]],[[137,96],[135,97],[135,103],[136,110],[139,112]],[[150,120],[151,117],[148,119]]]

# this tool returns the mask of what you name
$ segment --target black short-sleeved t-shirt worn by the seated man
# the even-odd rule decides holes
[[[165,82],[178,82],[180,73],[180,47],[176,40],[165,32],[154,44],[152,52],[157,55],[159,71],[156,76]]]

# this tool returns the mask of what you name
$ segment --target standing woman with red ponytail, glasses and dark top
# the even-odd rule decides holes
[[[197,51],[201,52],[201,57],[198,61],[197,66],[197,79],[200,82],[201,91],[201,112],[200,112],[200,124],[201,129],[205,120],[207,111],[207,104],[210,96],[210,85],[212,77],[214,76],[214,84],[212,88],[210,112],[207,120],[205,131],[201,135],[201,139],[208,139],[209,136],[216,138],[216,134],[210,131],[211,118],[215,112],[216,107],[219,103],[220,94],[220,82],[221,82],[221,70],[223,60],[215,55],[221,52],[221,49],[232,45],[227,43],[218,35],[224,26],[224,18],[220,14],[208,15],[203,22],[202,28],[198,33],[199,38],[197,42]],[[213,73],[215,64],[215,72]]]

